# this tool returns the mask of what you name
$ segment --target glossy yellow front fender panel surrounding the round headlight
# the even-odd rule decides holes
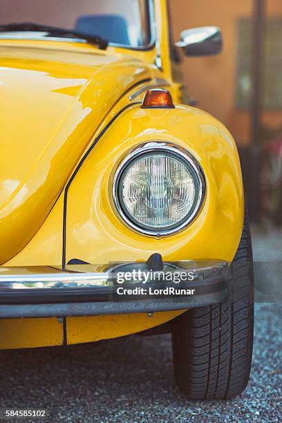
[[[111,198],[117,164],[139,144],[165,140],[187,149],[201,164],[207,191],[198,217],[182,232],[153,238],[120,220]],[[243,182],[236,144],[223,124],[188,106],[132,106],[113,121],[86,156],[65,202],[66,263],[164,260],[232,261],[243,228]]]

